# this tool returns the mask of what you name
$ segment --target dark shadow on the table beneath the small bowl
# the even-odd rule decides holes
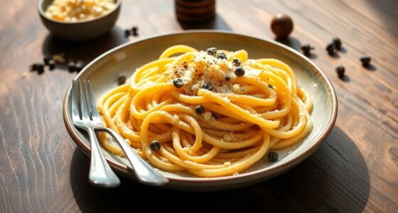
[[[43,42],[42,52],[44,56],[64,53],[67,60],[82,60],[87,64],[107,50],[127,41],[129,39],[124,36],[124,31],[118,26],[115,26],[109,33],[95,40],[84,42],[63,40],[48,34]],[[68,70],[67,64],[68,62],[64,65],[59,65],[58,68]]]

